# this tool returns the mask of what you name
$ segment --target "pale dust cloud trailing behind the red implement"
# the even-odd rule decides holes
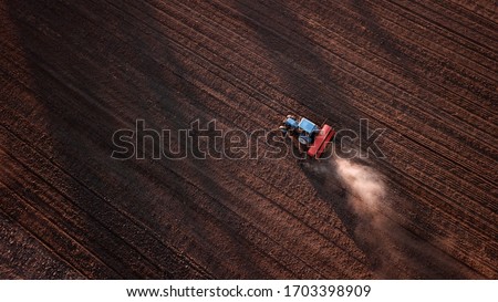
[[[354,236],[369,254],[381,279],[475,277],[428,242],[414,237],[390,217],[393,196],[384,175],[373,167],[334,158],[339,180],[346,191],[346,202],[356,217]]]

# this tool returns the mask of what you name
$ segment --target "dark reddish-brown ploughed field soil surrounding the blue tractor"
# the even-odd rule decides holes
[[[0,3],[0,278],[498,278],[495,1]],[[136,119],[178,147],[287,114],[386,128],[353,160],[385,196],[333,160],[111,158]]]

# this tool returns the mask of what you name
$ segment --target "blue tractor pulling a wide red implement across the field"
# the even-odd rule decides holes
[[[335,134],[334,129],[326,124],[320,128],[310,119],[305,117],[298,119],[293,115],[288,115],[279,129],[284,137],[289,135],[298,138],[299,149],[317,159],[323,154],[328,143]]]

